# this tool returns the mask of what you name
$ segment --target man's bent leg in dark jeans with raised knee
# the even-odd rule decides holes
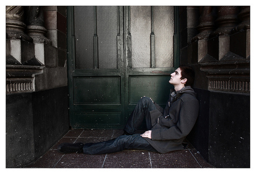
[[[152,129],[152,122],[150,117],[150,111],[156,110],[155,104],[148,97],[142,97],[137,103],[133,112],[131,113],[127,123],[124,127],[124,131],[129,134],[134,134],[138,127],[141,125],[143,119],[146,120],[147,130]]]

